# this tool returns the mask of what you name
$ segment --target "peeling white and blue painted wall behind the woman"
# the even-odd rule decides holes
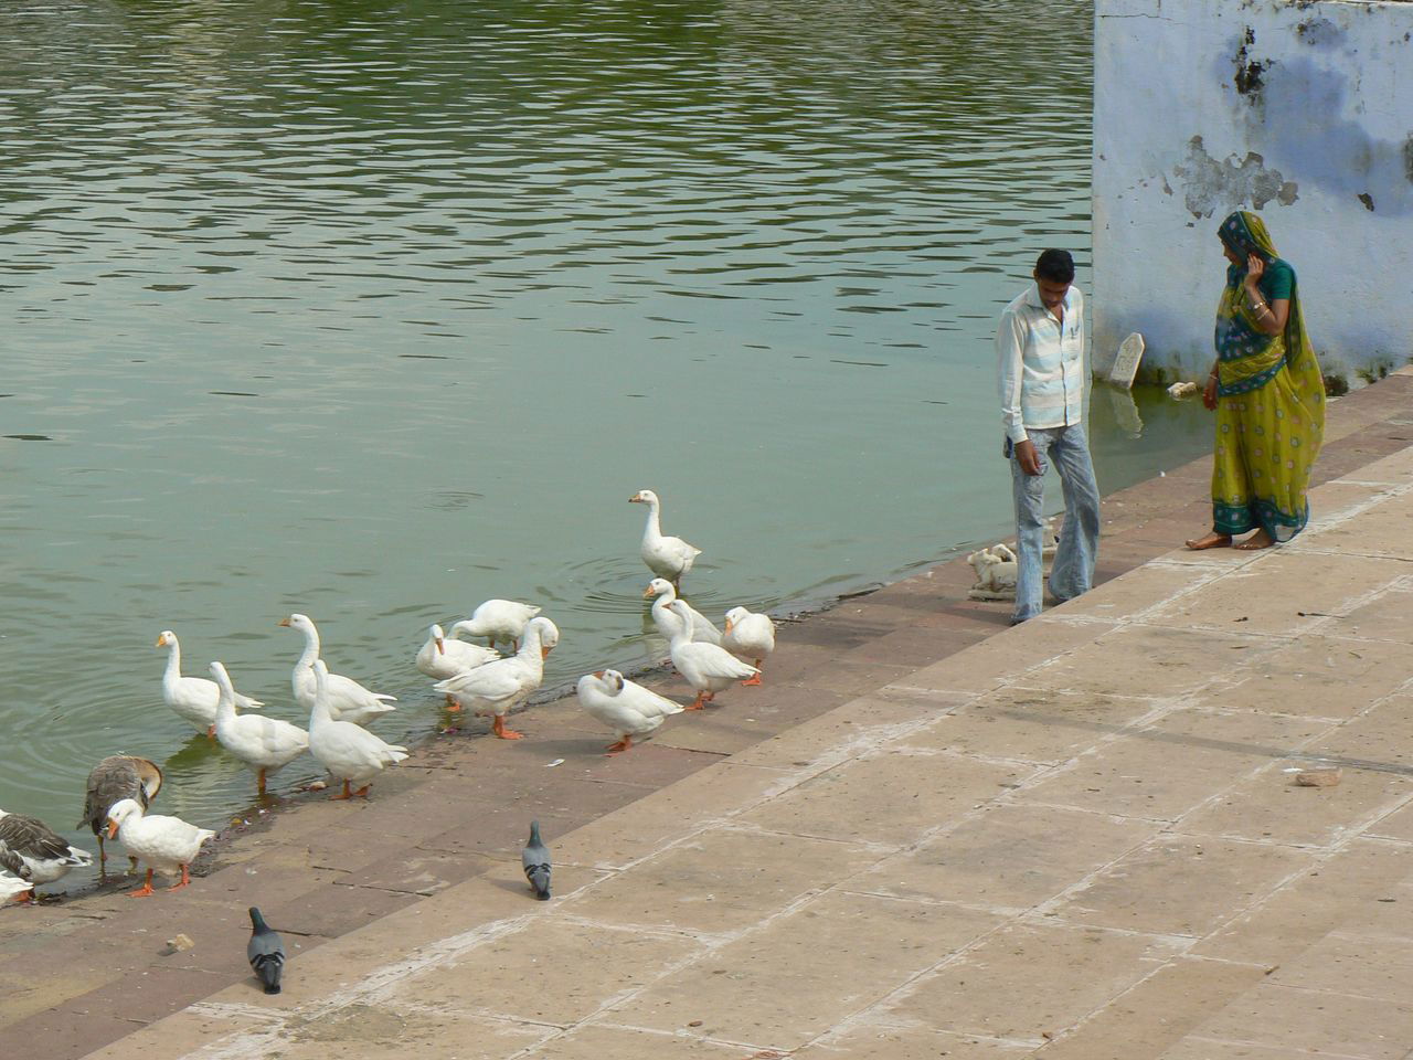
[[[1137,331],[1145,365],[1205,373],[1234,209],[1327,372],[1413,356],[1413,3],[1095,0],[1096,369]]]

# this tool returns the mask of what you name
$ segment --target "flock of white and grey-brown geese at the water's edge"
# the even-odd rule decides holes
[[[668,642],[673,666],[697,698],[682,705],[627,680],[617,670],[599,670],[579,678],[581,707],[617,738],[606,748],[617,755],[633,746],[634,738],[656,732],[673,714],[702,709],[712,697],[731,687],[760,684],[760,667],[774,650],[774,623],[746,608],[732,608],[718,629],[705,615],[677,594],[682,575],[691,571],[699,548],[661,529],[661,502],[650,490],[639,490],[630,503],[647,505],[642,555],[656,575],[643,596],[653,599],[653,623]],[[304,652],[294,664],[294,700],[309,717],[302,729],[257,711],[264,704],[235,690],[222,663],[211,664],[211,678],[181,673],[181,643],[172,630],[162,630],[157,647],[167,649],[162,700],[184,721],[239,759],[256,775],[256,790],[266,794],[268,777],[301,755],[312,755],[331,782],[342,782],[335,799],[367,797],[373,780],[389,766],[408,756],[407,748],[387,743],[365,728],[396,709],[394,697],[374,693],[350,677],[329,673],[319,657],[319,630],[308,615],[294,613],[280,622],[304,636]],[[458,639],[485,637],[487,646]],[[451,626],[449,633],[432,625],[417,652],[417,669],[431,677],[447,697],[447,709],[469,709],[489,715],[492,734],[500,739],[521,739],[506,728],[506,715],[523,704],[544,680],[544,659],[560,642],[560,630],[540,608],[516,601],[490,599],[469,619]],[[510,646],[502,656],[497,643]],[[749,660],[749,661],[747,661]],[[179,875],[170,889],[191,882],[189,865],[202,844],[215,835],[179,817],[148,813],[162,786],[162,770],[146,758],[112,755],[88,779],[83,820],[99,844],[100,872],[106,869],[106,840],[119,840],[131,866],[147,866],[143,885],[133,897],[155,893],[153,873]],[[537,840],[537,837],[536,837]],[[34,900],[37,886],[52,883],[69,871],[93,864],[93,855],[71,847],[35,817],[0,810],[0,905],[10,899]],[[548,896],[530,872],[537,895]],[[543,892],[543,893],[541,893]]]

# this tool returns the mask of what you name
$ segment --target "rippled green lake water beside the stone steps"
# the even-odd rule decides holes
[[[250,806],[161,702],[168,628],[302,724],[276,623],[307,612],[406,739],[427,625],[487,596],[560,623],[547,684],[658,657],[642,488],[712,615],[1006,533],[992,335],[1040,249],[1088,285],[1091,18],[11,6],[0,807],[79,840],[114,752],[167,766],[164,813]],[[1191,403],[1140,394],[1140,438],[1094,406],[1105,490],[1210,441]]]

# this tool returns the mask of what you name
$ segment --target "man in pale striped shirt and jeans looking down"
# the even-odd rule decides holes
[[[1099,550],[1099,489],[1084,435],[1084,295],[1074,287],[1074,259],[1046,250],[1034,283],[1000,314],[996,359],[1005,454],[1016,499],[1016,611],[1010,625],[1040,613],[1046,469],[1054,464],[1064,490],[1064,527],[1050,571],[1060,601],[1094,584]]]

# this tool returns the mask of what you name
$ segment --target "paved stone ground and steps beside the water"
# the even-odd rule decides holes
[[[1167,553],[1207,523],[1197,462],[1109,497],[1130,572],[1026,626],[944,565],[788,626],[763,690],[629,755],[554,704],[178,895],[6,910],[0,1052],[1413,1056],[1413,375],[1330,434],[1282,550]],[[1341,783],[1293,786],[1317,760]],[[278,998],[252,902],[294,948]]]

